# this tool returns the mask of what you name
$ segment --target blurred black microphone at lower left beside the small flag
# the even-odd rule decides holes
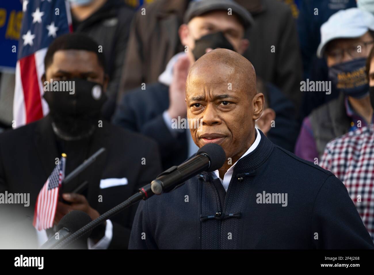
[[[78,210],[69,212],[62,217],[57,225],[58,239],[56,239],[56,234],[53,235],[40,247],[40,249],[50,249],[55,247],[59,242],[66,239],[91,221],[91,217],[86,212]]]

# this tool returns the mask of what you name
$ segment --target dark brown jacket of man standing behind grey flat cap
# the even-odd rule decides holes
[[[255,24],[246,32],[250,46],[243,54],[258,76],[272,82],[300,105],[301,58],[291,10],[277,0],[236,0],[251,12]],[[183,51],[178,28],[188,0],[157,0],[135,15],[120,85],[123,92],[157,81],[169,59]],[[275,52],[271,47],[275,46]]]

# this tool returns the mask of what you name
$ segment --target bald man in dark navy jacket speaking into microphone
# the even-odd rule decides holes
[[[255,128],[264,96],[246,58],[203,55],[188,73],[186,103],[187,117],[200,121],[194,143],[219,144],[227,161],[142,201],[129,248],[373,248],[344,184]]]

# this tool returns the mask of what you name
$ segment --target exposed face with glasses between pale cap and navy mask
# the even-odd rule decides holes
[[[326,47],[327,65],[332,67],[353,59],[367,58],[373,48],[369,32],[355,39],[334,39]]]

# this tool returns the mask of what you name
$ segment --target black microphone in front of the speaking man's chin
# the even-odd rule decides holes
[[[226,161],[225,151],[216,143],[208,143],[196,155],[179,166],[173,166],[151,182],[154,194],[171,190],[202,171],[212,172],[221,168]]]

